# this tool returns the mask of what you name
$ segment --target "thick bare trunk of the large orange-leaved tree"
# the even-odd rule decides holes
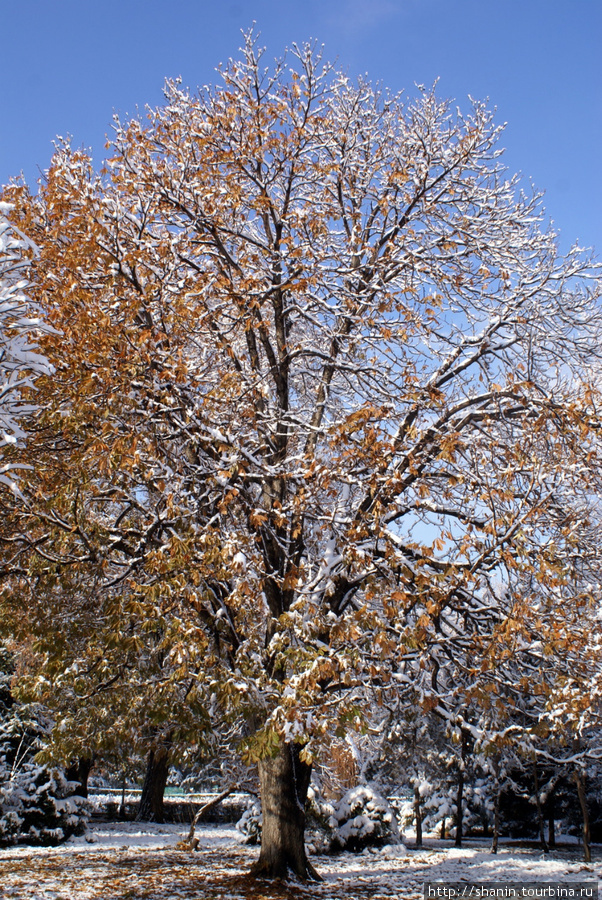
[[[258,878],[320,880],[305,853],[305,801],[311,766],[299,759],[297,744],[283,744],[278,754],[259,762],[261,852],[251,869]]]

